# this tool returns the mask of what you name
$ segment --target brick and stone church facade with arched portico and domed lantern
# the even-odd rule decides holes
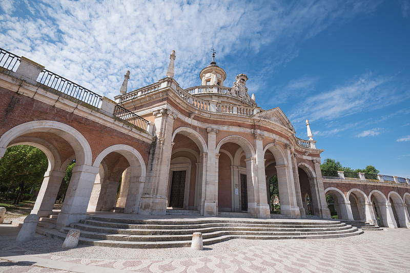
[[[247,75],[239,74],[232,87],[225,86],[226,72],[214,56],[199,73],[201,85],[187,89],[173,79],[175,52],[170,59],[167,78],[127,93],[127,74],[115,97],[154,124],[157,138],[145,186],[133,189],[139,206],[128,207],[132,183],[127,170],[117,207],[139,214],[178,208],[204,216],[247,212],[270,218],[269,181],[276,175],[283,217],[311,213],[330,218],[320,173],[323,150],[316,149],[312,137],[296,138],[279,108],[258,107],[248,93]]]

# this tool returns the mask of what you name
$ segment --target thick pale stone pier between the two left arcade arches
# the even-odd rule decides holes
[[[98,171],[98,167],[88,165],[76,165],[73,168],[63,208],[58,214],[57,229],[87,217],[87,207]]]

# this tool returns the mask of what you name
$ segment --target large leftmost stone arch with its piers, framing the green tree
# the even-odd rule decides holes
[[[15,126],[2,135],[0,148],[3,149],[0,149],[0,156],[3,156],[5,148],[16,144],[43,147],[40,149],[45,151],[50,162],[32,213],[36,213],[39,217],[47,217],[52,213],[65,170],[75,158],[77,167],[73,170],[57,225],[68,225],[74,221],[74,218],[78,220],[79,215],[85,217],[87,206],[83,204],[88,202],[91,187],[88,188],[90,185],[86,185],[87,179],[81,179],[81,175],[85,175],[82,166],[90,166],[92,159],[90,146],[83,135],[63,123],[33,121]],[[73,203],[76,206],[73,206]]]

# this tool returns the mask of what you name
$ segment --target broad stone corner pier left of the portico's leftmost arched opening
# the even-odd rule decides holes
[[[171,139],[176,114],[169,109],[153,112],[156,127],[156,147],[149,159],[144,194],[141,196],[139,214],[165,215],[167,211],[167,189],[171,163]],[[128,195],[130,196],[130,195]]]

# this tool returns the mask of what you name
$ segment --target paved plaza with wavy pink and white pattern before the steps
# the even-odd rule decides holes
[[[18,227],[0,225],[0,272],[409,272],[410,230],[385,229],[338,239],[235,239],[191,248],[124,249],[36,235],[16,243]]]

